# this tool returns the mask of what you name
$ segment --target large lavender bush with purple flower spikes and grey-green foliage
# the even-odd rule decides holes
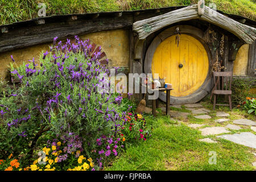
[[[99,76],[109,73],[100,64],[101,49],[91,53],[89,41],[77,36],[73,44],[68,39],[56,44],[56,39],[49,52],[42,52],[40,65],[32,59],[15,67],[11,57],[11,73],[21,84],[0,100],[0,159],[10,152],[31,157],[39,138],[63,133],[79,135],[90,156],[98,138],[115,137],[126,122],[121,94],[97,92],[100,83],[109,84]]]

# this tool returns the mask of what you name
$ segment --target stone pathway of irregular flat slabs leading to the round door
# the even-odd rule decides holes
[[[208,119],[212,118],[208,113],[211,110],[206,109],[201,104],[185,104],[185,109],[190,110],[191,113],[183,113],[179,111],[171,110],[171,117],[172,118],[188,118],[189,114],[193,114],[193,117],[197,119],[207,119],[206,121],[209,122]],[[171,107],[175,107],[178,109],[182,109],[181,105],[172,105]],[[164,112],[166,111],[165,107],[161,108]],[[228,134],[231,133],[229,130],[241,130],[242,127],[238,125],[245,125],[251,126],[250,129],[256,132],[256,122],[251,121],[250,119],[236,119],[233,121],[233,125],[228,124],[225,126],[225,122],[230,121],[230,119],[226,118],[229,117],[228,113],[224,111],[217,111],[216,117],[220,117],[220,119],[216,119],[213,123],[219,123],[224,125],[223,127],[220,126],[213,126],[213,127],[205,127],[204,129],[200,129],[200,127],[205,126],[205,124],[197,124],[197,123],[189,123],[188,127],[192,127],[193,129],[197,129],[201,131],[201,135],[208,136],[208,135],[218,135],[217,138],[226,139],[232,141],[234,143],[242,144],[243,146],[256,148],[256,135],[250,132],[243,132],[237,134]],[[228,130],[229,129],[229,130]],[[217,143],[216,141],[210,138],[199,139],[200,142],[207,142],[207,143]],[[256,155],[256,154],[254,154]],[[256,165],[256,162],[253,163]]]

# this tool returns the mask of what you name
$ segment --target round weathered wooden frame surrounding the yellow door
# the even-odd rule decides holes
[[[156,48],[165,39],[174,35],[176,27],[179,27],[181,34],[187,34],[199,40],[199,42],[203,44],[205,51],[207,52],[207,55],[208,55],[208,61],[209,61],[208,74],[207,74],[207,78],[205,78],[205,81],[200,86],[200,88],[197,89],[194,93],[185,97],[171,96],[171,105],[192,104],[202,100],[205,96],[207,96],[210,93],[210,90],[212,89],[212,79],[210,78],[210,60],[211,60],[212,54],[210,53],[209,47],[203,40],[204,32],[201,31],[199,28],[196,28],[193,26],[181,25],[181,26],[174,26],[171,28],[167,28],[166,30],[162,31],[159,35],[157,35],[154,38],[154,40],[152,41],[152,43],[147,49],[145,60],[144,60],[144,72],[146,74],[152,73],[151,65],[152,65],[152,59],[153,59]],[[159,98],[160,100],[166,102],[166,94],[164,92],[159,92]]]

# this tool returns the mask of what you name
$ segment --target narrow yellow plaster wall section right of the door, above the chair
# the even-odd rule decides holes
[[[243,45],[238,50],[236,60],[234,60],[233,75],[236,75],[236,76],[246,75],[246,68],[248,64],[248,52],[249,52],[249,44]]]

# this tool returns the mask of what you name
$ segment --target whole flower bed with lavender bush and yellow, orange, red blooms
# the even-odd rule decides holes
[[[77,36],[74,43],[56,40],[39,65],[32,59],[17,67],[11,56],[20,85],[0,100],[0,169],[98,170],[126,144],[150,137],[122,94],[97,90],[110,85],[101,49],[92,53],[89,40]]]

